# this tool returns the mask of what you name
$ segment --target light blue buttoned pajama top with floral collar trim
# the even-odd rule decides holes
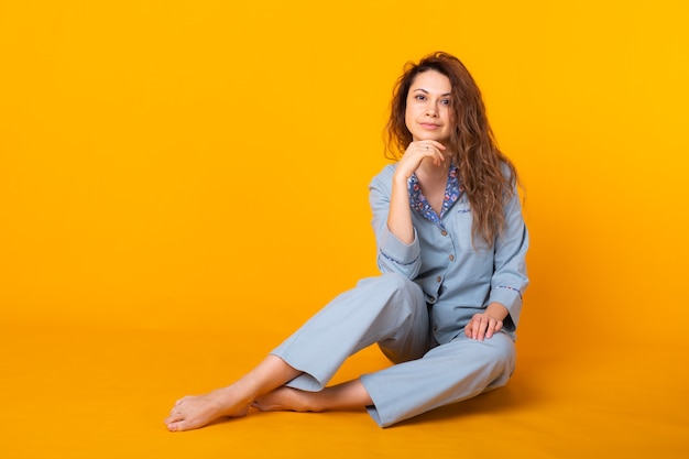
[[[413,176],[408,188],[414,241],[405,244],[387,229],[395,168],[396,164],[387,165],[369,185],[381,272],[400,273],[422,287],[440,345],[451,341],[474,314],[493,302],[510,312],[503,329],[514,338],[522,295],[528,285],[528,232],[516,189],[504,205],[506,228],[489,248],[480,236],[472,241],[472,211],[455,166],[449,171],[440,216],[425,205]]]

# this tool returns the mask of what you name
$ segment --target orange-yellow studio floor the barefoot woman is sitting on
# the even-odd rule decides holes
[[[162,419],[186,393],[229,382],[278,337],[218,330],[6,324],[2,458],[685,458],[687,349],[628,342],[521,353],[499,391],[379,428],[364,412],[251,413],[190,433]],[[650,347],[647,347],[650,346]],[[683,362],[683,363],[682,363]],[[374,349],[337,380],[386,364]]]

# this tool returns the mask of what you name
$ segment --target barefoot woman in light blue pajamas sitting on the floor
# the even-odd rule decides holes
[[[172,431],[260,411],[365,407],[386,427],[506,384],[528,283],[516,171],[497,150],[473,78],[456,57],[407,64],[370,185],[379,277],[335,298],[228,387],[175,404]],[[398,154],[396,156],[400,156]],[[327,386],[378,343],[394,363]]]

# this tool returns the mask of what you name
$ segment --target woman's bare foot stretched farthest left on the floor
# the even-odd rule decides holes
[[[233,386],[218,389],[206,395],[179,398],[165,419],[169,431],[204,427],[221,417],[241,417],[247,414],[251,400],[239,396]]]

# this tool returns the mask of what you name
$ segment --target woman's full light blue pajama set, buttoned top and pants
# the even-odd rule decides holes
[[[287,385],[320,391],[349,356],[379,343],[395,364],[361,381],[373,401],[369,413],[382,427],[504,385],[514,371],[528,284],[528,234],[516,194],[505,205],[507,228],[491,249],[479,238],[472,245],[463,193],[439,221],[414,210],[415,240],[404,244],[387,230],[395,167],[370,186],[383,275],[336,297],[272,352],[304,372]],[[510,312],[503,331],[484,341],[467,338],[464,326],[493,302]]]

